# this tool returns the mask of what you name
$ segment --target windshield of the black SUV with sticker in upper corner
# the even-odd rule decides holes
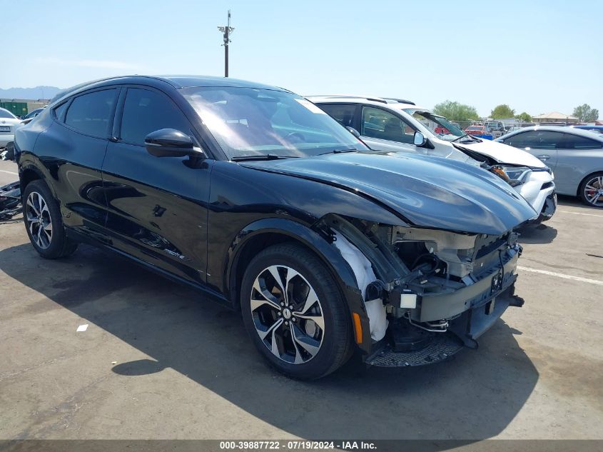
[[[289,92],[223,86],[181,92],[230,159],[368,151],[318,106]]]

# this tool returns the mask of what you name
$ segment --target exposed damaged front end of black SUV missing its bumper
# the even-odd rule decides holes
[[[355,273],[370,323],[370,365],[419,366],[477,348],[507,307],[523,304],[515,295],[522,247],[512,230],[462,233],[334,214],[317,226]]]

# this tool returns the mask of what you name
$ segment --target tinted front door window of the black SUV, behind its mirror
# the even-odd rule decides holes
[[[143,146],[145,137],[159,129],[176,129],[183,134],[191,134],[186,117],[165,94],[128,88],[121,117],[121,140]]]

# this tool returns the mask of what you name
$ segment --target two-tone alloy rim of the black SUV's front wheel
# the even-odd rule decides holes
[[[325,318],[313,287],[298,271],[273,265],[251,289],[255,331],[274,356],[302,364],[314,358],[325,337]]]

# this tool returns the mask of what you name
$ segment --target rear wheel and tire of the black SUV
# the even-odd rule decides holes
[[[25,187],[23,217],[29,241],[40,256],[57,259],[76,251],[78,243],[66,236],[59,203],[44,181]]]

